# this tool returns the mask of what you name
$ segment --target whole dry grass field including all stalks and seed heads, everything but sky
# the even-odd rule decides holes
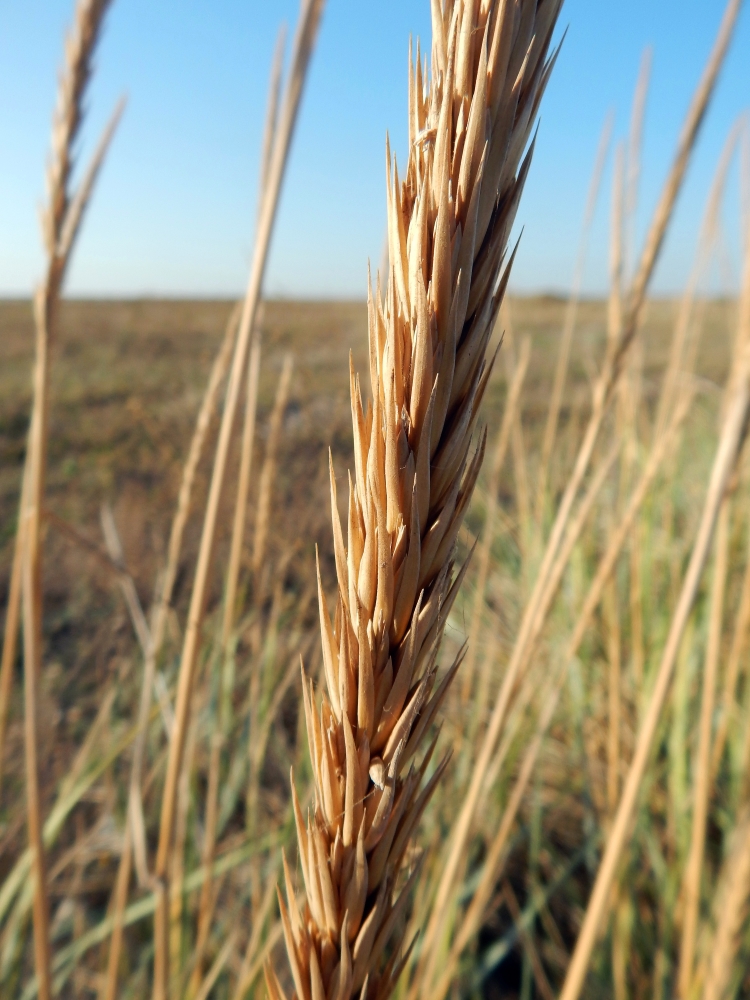
[[[3,995],[259,1000],[264,966],[272,995],[297,1000],[747,991],[750,257],[739,310],[701,294],[741,123],[681,302],[646,298],[739,4],[637,256],[644,58],[616,156],[609,303],[577,296],[585,220],[570,301],[506,297],[495,327],[558,6],[434,0],[403,183],[388,162],[384,291],[261,307],[322,8],[305,0],[285,84],[283,33],[272,68],[234,312],[57,307],[121,111],[73,193],[106,5],[79,6],[30,428],[34,319],[0,305]],[[352,372],[368,369],[365,408]],[[24,562],[24,653],[43,667],[26,671],[26,706]],[[467,624],[471,669],[453,685]]]

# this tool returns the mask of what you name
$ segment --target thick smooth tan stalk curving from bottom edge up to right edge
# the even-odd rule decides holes
[[[732,13],[731,4],[727,13]],[[727,16],[725,15],[723,28],[726,29],[726,27]],[[744,440],[748,410],[750,409],[749,378],[750,254],[746,255],[745,258],[740,321],[738,324],[734,362],[727,389],[723,426],[711,470],[711,478],[706,492],[698,532],[690,556],[690,563],[685,573],[679,600],[672,616],[669,634],[657,671],[656,682],[638,734],[633,759],[620,799],[620,805],[607,840],[604,856],[586,910],[586,916],[565,977],[560,1000],[578,1000],[583,988],[594,943],[608,906],[610,890],[617,866],[626,846],[631,819],[671,683],[677,653],[692,611],[693,602],[698,592],[703,569],[711,548],[719,511],[724,502],[727,486]]]

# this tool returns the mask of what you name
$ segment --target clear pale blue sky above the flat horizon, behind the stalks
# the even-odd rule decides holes
[[[37,205],[63,31],[73,0],[0,0],[0,294],[41,273]],[[658,198],[723,0],[566,0],[568,27],[542,106],[519,222],[518,291],[566,289],[602,123],[627,134],[641,54],[653,46],[636,238]],[[244,287],[276,33],[297,0],[116,0],[99,50],[82,159],[119,94],[129,105],[86,220],[68,291],[236,295]],[[328,0],[267,272],[272,295],[359,297],[384,236],[384,138],[403,161],[409,33],[428,0]],[[655,290],[687,275],[725,138],[750,104],[743,11],[680,198]],[[739,169],[724,206],[724,285],[739,270]],[[584,287],[606,287],[611,157]],[[719,279],[717,279],[719,280]]]

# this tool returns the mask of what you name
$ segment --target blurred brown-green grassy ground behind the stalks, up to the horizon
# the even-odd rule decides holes
[[[518,419],[498,484],[500,515],[491,539],[491,564],[481,629],[474,637],[478,665],[487,664],[493,696],[502,677],[529,580],[549,528],[550,510],[533,510],[539,450],[549,387],[557,356],[565,303],[554,298],[511,299],[503,316],[506,339],[498,356],[484,404],[489,453],[497,438],[508,392],[509,362],[530,338],[531,355]],[[543,680],[567,641],[608,533],[623,498],[650,447],[652,421],[660,391],[677,305],[652,302],[642,332],[639,374],[631,373],[631,391],[640,386],[634,416],[623,430],[614,414],[600,445],[604,455],[617,435],[632,441],[606,478],[585,532],[572,553],[560,594],[549,615],[542,643],[530,671],[532,688]],[[106,918],[122,851],[128,775],[128,732],[135,718],[141,659],[123,602],[118,577],[99,553],[103,550],[99,512],[110,504],[120,534],[124,561],[140,602],[151,604],[174,512],[182,466],[192,427],[221,341],[230,304],[224,302],[67,302],[54,345],[51,380],[49,487],[47,504],[57,519],[75,529],[62,530],[50,520],[45,540],[44,670],[40,760],[43,810],[49,816],[70,791],[71,775],[89,776],[72,799],[65,821],[50,845],[50,899],[53,942],[63,959],[60,988],[64,996],[96,995],[106,955],[96,944],[76,951],[76,942]],[[681,446],[671,453],[649,494],[639,527],[642,583],[643,663],[634,666],[632,638],[632,559],[619,562],[614,591],[592,623],[565,688],[549,738],[511,838],[502,873],[481,929],[457,970],[456,996],[545,995],[561,981],[575,941],[601,838],[607,805],[608,733],[612,689],[612,636],[622,671],[618,775],[632,753],[639,712],[649,678],[663,645],[676,601],[680,576],[690,551],[715,440],[722,386],[736,325],[736,306],[708,303],[696,362],[697,393],[685,424]],[[559,497],[590,409],[591,383],[602,361],[606,305],[580,306],[570,373],[564,394],[558,444],[551,475],[551,497]],[[498,329],[496,336],[499,336]],[[30,401],[33,325],[28,303],[0,305],[0,605],[7,596],[18,491]],[[366,309],[361,303],[270,302],[262,322],[262,365],[256,435],[256,470],[241,575],[242,612],[238,618],[225,722],[222,757],[220,847],[229,870],[219,882],[215,921],[208,946],[211,958],[222,954],[232,928],[239,926],[224,958],[215,995],[233,996],[241,978],[243,954],[258,924],[262,940],[273,946],[275,911],[267,887],[278,877],[278,844],[289,842],[286,775],[291,763],[306,773],[306,748],[299,731],[299,693],[294,667],[299,652],[308,671],[319,669],[317,608],[314,601],[314,544],[320,547],[326,587],[334,579],[328,515],[327,448],[333,451],[339,482],[345,482],[351,454],[347,351],[355,366],[366,367]],[[269,416],[284,357],[294,370],[286,402],[276,474],[267,557],[257,576],[250,571],[254,543],[257,483],[268,438]],[[214,421],[213,431],[215,433]],[[237,436],[237,435],[236,435]],[[207,442],[206,456],[213,452]],[[205,626],[206,652],[196,698],[196,723],[189,741],[190,766],[182,798],[182,870],[200,869],[203,808],[211,733],[217,718],[216,636],[221,617],[221,568],[226,563],[237,466],[235,441],[222,499],[217,567]],[[465,550],[481,537],[487,509],[489,459],[477,498],[461,537]],[[160,661],[162,718],[150,728],[149,772],[144,807],[153,848],[155,810],[164,764],[164,713],[168,715],[181,630],[205,503],[209,459],[202,461],[185,536],[165,654]],[[732,643],[745,566],[746,473],[738,479],[729,531],[729,560],[722,627],[722,664]],[[341,496],[340,489],[340,496]],[[88,543],[85,544],[85,542]],[[631,547],[632,548],[632,547]],[[446,645],[457,647],[468,631],[474,601],[474,570],[449,623]],[[708,584],[706,585],[709,586]],[[600,946],[589,980],[591,996],[668,995],[678,939],[678,906],[688,844],[691,773],[695,724],[700,698],[700,662],[708,629],[708,596],[701,593],[683,644],[673,701],[660,736],[660,751],[650,772],[627,870],[619,883],[612,929]],[[614,618],[613,618],[614,615]],[[615,626],[614,620],[617,619]],[[447,661],[447,656],[445,657]],[[742,674],[746,655],[743,653]],[[633,671],[640,670],[640,676]],[[723,675],[722,675],[723,676]],[[10,725],[5,747],[0,800],[0,884],[18,870],[25,846],[24,768],[20,659],[14,677]],[[608,686],[609,685],[609,686]],[[472,766],[471,740],[482,724],[484,706],[462,702],[460,680],[446,708],[441,740],[456,753],[446,786],[430,807],[424,841],[436,858],[449,828],[452,801],[460,794]],[[540,688],[541,690],[541,688]],[[744,688],[740,683],[742,697]],[[507,802],[522,752],[536,725],[538,697],[528,690],[509,728],[504,757],[492,794],[467,858],[465,885],[476,884],[494,830]],[[166,702],[166,708],[165,708]],[[106,711],[103,712],[103,706]],[[525,707],[524,707],[525,706]],[[744,724],[733,716],[729,762],[719,775],[713,799],[707,849],[707,884],[701,909],[705,954],[712,926],[715,893],[726,855],[729,831],[743,801],[738,771]],[[92,729],[93,727],[93,729]],[[263,752],[254,756],[258,734]],[[92,735],[93,734],[93,735]],[[120,747],[120,744],[121,747]],[[118,749],[120,747],[120,749]],[[114,751],[113,751],[114,748]],[[501,747],[502,749],[502,747]],[[67,783],[66,783],[67,782]],[[251,803],[252,812],[248,812]],[[251,818],[250,818],[251,817]],[[248,845],[260,856],[242,854]],[[237,852],[240,852],[237,855]],[[234,854],[232,852],[235,852]],[[417,894],[413,921],[427,905],[431,883]],[[29,900],[23,893],[3,903],[0,888],[0,983],[3,995],[23,993],[32,975],[30,935],[26,932]],[[541,895],[540,895],[541,894]],[[172,915],[171,947],[178,967],[190,972],[198,890],[184,893]],[[148,893],[135,883],[133,900]],[[541,898],[541,903],[539,902]],[[24,902],[24,900],[26,900]],[[456,904],[456,922],[462,903]],[[3,908],[4,907],[4,908]],[[422,908],[422,909],[421,909]],[[523,914],[525,915],[522,916]],[[262,914],[262,917],[259,916]],[[525,920],[525,922],[524,922]],[[134,920],[127,931],[123,959],[123,996],[141,996],[147,988],[150,932],[147,920]],[[519,930],[521,928],[521,930]],[[233,932],[234,933],[234,932]],[[709,937],[707,937],[709,935]],[[66,949],[68,949],[66,951]],[[72,950],[71,950],[72,949]],[[62,970],[62,971],[61,971]],[[255,980],[253,981],[255,982]],[[545,985],[546,984],[546,985]],[[552,985],[550,985],[552,984]],[[10,992],[5,993],[8,989]],[[459,989],[459,986],[456,987]],[[664,991],[664,992],[661,992]],[[255,995],[255,994],[254,994]],[[257,995],[262,995],[258,987]]]

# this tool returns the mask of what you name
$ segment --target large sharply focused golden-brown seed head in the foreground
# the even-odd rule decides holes
[[[307,904],[300,912],[288,871],[288,908],[280,897],[298,1000],[386,1000],[401,971],[388,946],[420,864],[399,876],[447,763],[422,789],[428,732],[463,656],[438,681],[465,572],[454,579],[455,540],[485,447],[483,434],[471,450],[485,351],[559,7],[451,4],[444,20],[433,5],[432,78],[419,60],[410,71],[403,184],[387,154],[390,275],[384,304],[369,295],[366,412],[351,375],[348,547],[331,466],[338,596],[332,624],[320,583],[320,708],[304,681],[316,790],[307,823],[293,794]],[[270,969],[267,983],[283,995]]]

